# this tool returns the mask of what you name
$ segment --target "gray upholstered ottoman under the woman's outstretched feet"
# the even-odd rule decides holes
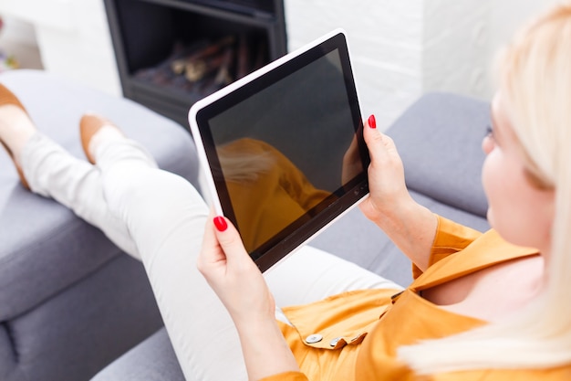
[[[7,71],[0,82],[78,157],[79,118],[97,111],[162,168],[197,184],[194,146],[179,124],[42,71]],[[0,380],[88,380],[161,326],[140,262],[66,207],[27,192],[0,152]]]

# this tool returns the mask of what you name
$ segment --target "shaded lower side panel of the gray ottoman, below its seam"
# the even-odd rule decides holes
[[[117,256],[0,324],[0,380],[87,380],[162,325],[142,264]]]

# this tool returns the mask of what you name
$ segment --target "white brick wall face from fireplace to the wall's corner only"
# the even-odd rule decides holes
[[[289,48],[336,27],[348,34],[361,109],[379,125],[392,120],[422,90],[423,2],[285,0]]]

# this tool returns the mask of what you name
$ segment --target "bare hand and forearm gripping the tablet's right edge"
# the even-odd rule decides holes
[[[363,131],[371,157],[370,194],[360,209],[420,270],[426,270],[438,219],[412,199],[395,144],[375,127],[374,117],[370,117]]]

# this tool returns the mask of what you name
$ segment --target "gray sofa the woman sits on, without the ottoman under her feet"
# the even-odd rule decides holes
[[[445,93],[431,93],[410,106],[388,134],[405,164],[407,185],[421,204],[444,217],[486,230],[486,200],[480,183],[481,142],[489,105]],[[358,209],[310,245],[406,286],[410,261]],[[183,381],[164,329],[102,370],[93,381]],[[187,380],[194,381],[194,380]]]

